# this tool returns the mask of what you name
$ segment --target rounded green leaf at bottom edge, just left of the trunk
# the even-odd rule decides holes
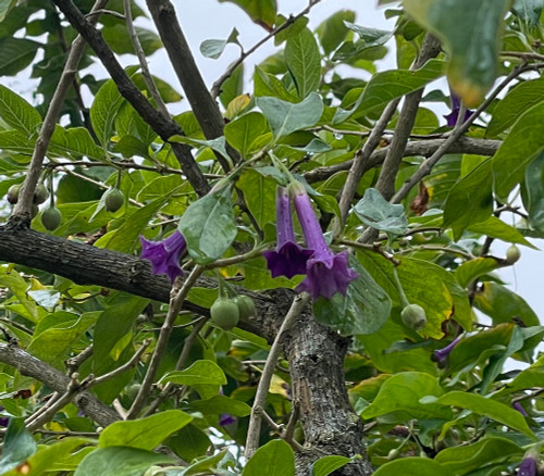
[[[242,476],[294,476],[295,453],[284,440],[272,440],[259,448]]]

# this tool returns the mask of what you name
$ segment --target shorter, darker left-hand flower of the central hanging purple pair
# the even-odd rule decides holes
[[[290,216],[289,193],[286,188],[277,187],[275,195],[276,213],[276,249],[264,251],[262,255],[272,277],[292,278],[297,274],[306,274],[306,263],[313,250],[306,250],[296,242],[293,218]]]

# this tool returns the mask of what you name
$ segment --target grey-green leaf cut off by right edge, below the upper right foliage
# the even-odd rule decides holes
[[[527,166],[521,199],[529,215],[529,225],[544,231],[544,153]]]

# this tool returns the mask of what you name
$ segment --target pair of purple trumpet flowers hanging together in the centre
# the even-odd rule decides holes
[[[296,243],[289,192],[308,249]],[[348,267],[347,251],[334,254],[329,248],[310,198],[301,184],[292,184],[289,190],[277,188],[276,234],[276,250],[263,253],[272,276],[290,278],[297,274],[306,274],[297,291],[307,291],[313,300],[320,296],[331,299],[336,292],[345,296],[349,283],[359,277]]]

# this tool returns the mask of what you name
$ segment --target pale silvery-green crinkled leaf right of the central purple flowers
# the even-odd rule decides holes
[[[359,220],[372,228],[392,235],[403,235],[408,220],[401,204],[392,204],[375,188],[368,188],[354,208]]]

